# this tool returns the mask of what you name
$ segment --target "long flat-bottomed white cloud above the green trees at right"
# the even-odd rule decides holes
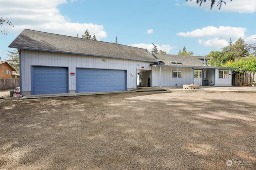
[[[180,32],[176,35],[180,35],[182,37],[220,37],[220,38],[231,38],[231,39],[239,39],[240,37],[244,37],[244,33],[246,32],[246,28],[243,27],[229,27],[229,26],[208,26],[202,29],[195,29],[191,32]]]

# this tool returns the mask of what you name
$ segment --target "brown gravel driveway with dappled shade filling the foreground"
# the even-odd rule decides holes
[[[0,169],[255,170],[255,106],[234,92],[2,98]]]

